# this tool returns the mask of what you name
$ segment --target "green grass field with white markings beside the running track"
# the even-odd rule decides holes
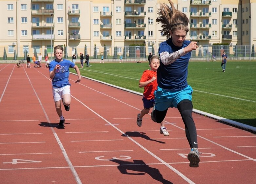
[[[133,91],[144,91],[138,84],[143,71],[149,69],[148,62],[90,65],[80,68],[81,75]],[[194,90],[194,109],[256,127],[255,61],[228,61],[225,73],[220,61],[191,61],[187,81]]]

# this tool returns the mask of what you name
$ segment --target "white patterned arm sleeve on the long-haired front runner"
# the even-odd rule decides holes
[[[171,54],[169,54],[168,52],[162,52],[160,54],[161,62],[164,65],[169,65],[169,64],[173,63],[176,59],[179,59],[181,56],[184,56],[186,54],[183,49],[184,48],[182,48],[176,52],[173,52]]]

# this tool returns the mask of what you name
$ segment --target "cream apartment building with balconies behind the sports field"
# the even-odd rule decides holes
[[[129,45],[145,45],[147,54],[166,40],[156,24],[159,3],[167,0],[0,0],[0,57],[22,57],[36,50],[51,55],[63,45],[90,55],[96,47],[109,55]],[[213,43],[256,44],[256,0],[173,0],[190,21],[187,40],[200,47]]]

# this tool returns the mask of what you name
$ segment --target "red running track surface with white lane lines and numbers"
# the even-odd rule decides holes
[[[0,64],[1,183],[256,183],[255,134],[193,114],[203,154],[190,168],[177,109],[164,137],[150,115],[137,126],[141,96],[69,78],[70,111],[58,129],[49,70]]]

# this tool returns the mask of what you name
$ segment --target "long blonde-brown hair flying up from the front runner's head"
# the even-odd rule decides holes
[[[160,3],[160,8],[158,9],[157,14],[159,15],[156,18],[156,22],[158,24],[162,24],[162,29],[160,30],[161,33],[163,32],[163,36],[166,36],[167,39],[170,38],[170,32],[173,33],[175,30],[185,30],[186,32],[189,31],[188,22],[189,19],[187,18],[185,13],[177,10],[173,2],[168,0],[170,3],[170,7],[165,3]]]

